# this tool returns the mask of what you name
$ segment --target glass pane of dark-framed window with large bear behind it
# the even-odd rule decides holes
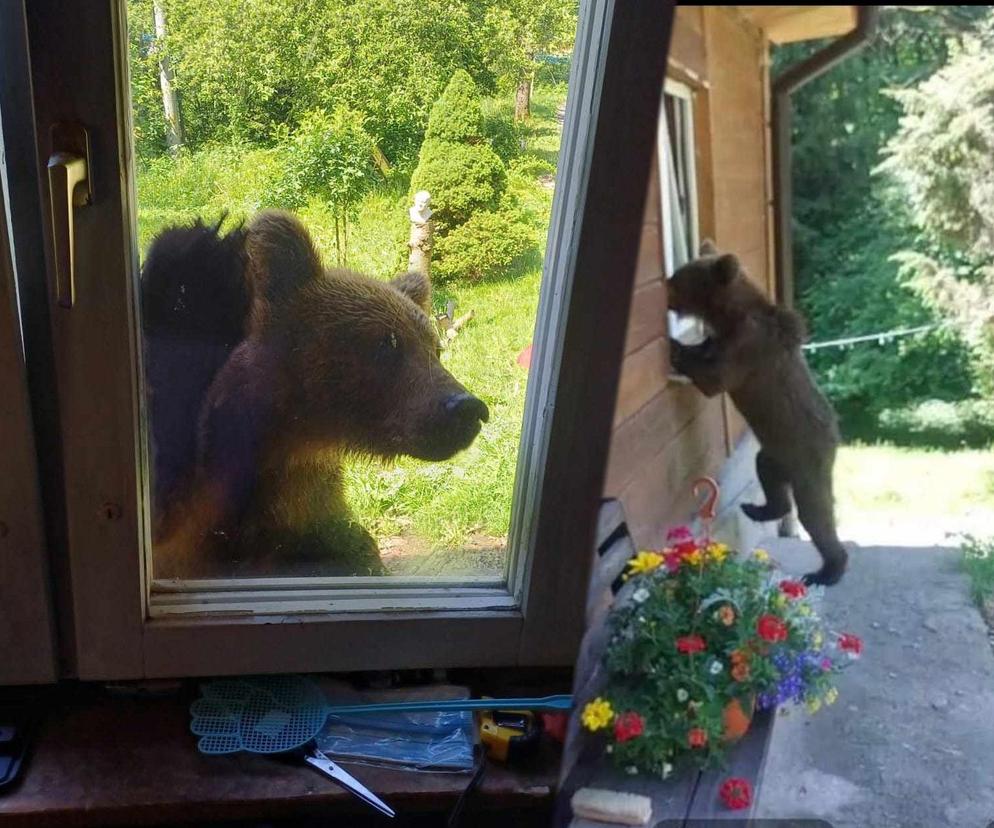
[[[577,4],[127,5],[154,577],[505,579]]]

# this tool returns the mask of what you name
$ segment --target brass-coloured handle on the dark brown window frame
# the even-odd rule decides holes
[[[55,298],[60,307],[76,300],[76,208],[92,201],[89,141],[80,126],[52,129],[48,159],[48,187],[52,203],[52,241],[55,247]]]

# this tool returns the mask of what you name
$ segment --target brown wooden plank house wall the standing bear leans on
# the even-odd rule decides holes
[[[767,43],[735,7],[680,6],[670,74],[695,90],[701,237],[735,252],[773,295]],[[694,511],[702,474],[717,475],[745,433],[726,398],[668,379],[658,176],[646,200],[605,495],[624,504],[640,546]]]

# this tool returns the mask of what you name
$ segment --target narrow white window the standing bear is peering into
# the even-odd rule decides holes
[[[659,115],[658,149],[667,278],[695,258],[700,247],[693,106],[690,88],[667,78]],[[704,329],[699,320],[680,318],[670,311],[668,321],[674,339],[687,344],[703,339]]]

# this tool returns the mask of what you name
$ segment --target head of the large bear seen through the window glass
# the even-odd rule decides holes
[[[280,212],[253,221],[246,248],[250,337],[281,355],[280,416],[299,438],[422,460],[473,442],[489,412],[440,362],[424,275],[382,282],[325,269],[303,225]]]

